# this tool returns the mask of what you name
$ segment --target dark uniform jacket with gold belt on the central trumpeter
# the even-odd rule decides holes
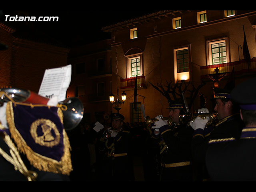
[[[193,129],[185,124],[160,130],[161,181],[192,181],[191,140]]]

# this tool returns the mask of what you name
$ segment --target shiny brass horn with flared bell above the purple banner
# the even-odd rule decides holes
[[[0,88],[0,102],[31,103],[31,104],[47,104],[49,98],[40,96],[30,90],[19,88]],[[84,114],[84,106],[80,99],[71,97],[59,102],[60,109],[63,113],[63,125],[65,130],[72,130],[81,122]]]

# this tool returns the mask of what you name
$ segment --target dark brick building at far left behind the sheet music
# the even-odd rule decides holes
[[[67,65],[70,48],[41,40],[34,34],[21,34],[0,23],[0,42],[8,46],[0,50],[0,86],[12,86],[38,92],[49,68]]]

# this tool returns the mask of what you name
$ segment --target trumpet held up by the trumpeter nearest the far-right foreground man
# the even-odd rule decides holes
[[[196,117],[201,117],[202,119],[206,119],[206,117],[209,117],[209,120],[206,124],[206,126],[209,126],[216,120],[217,116],[218,113],[191,113],[180,115],[179,118],[181,123],[189,123],[190,121],[193,121]]]

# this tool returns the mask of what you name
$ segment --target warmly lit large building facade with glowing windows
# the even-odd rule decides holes
[[[243,10],[159,11],[139,18],[103,27],[111,32],[112,88],[127,94],[120,113],[128,122],[144,121],[134,111],[134,80],[137,76],[138,107],[144,104],[146,115],[168,116],[167,98],[153,85],[202,83],[191,111],[200,108],[199,94],[213,111],[214,78],[224,88],[234,68],[235,84],[255,76],[256,12]],[[250,65],[243,54],[244,34],[250,53]],[[225,75],[224,75],[225,74]],[[223,76],[221,76],[223,75]],[[161,89],[161,88],[160,88]],[[120,91],[119,91],[120,92]],[[189,99],[188,93],[186,97]],[[139,114],[139,117],[136,116]],[[135,117],[136,116],[136,117]]]

